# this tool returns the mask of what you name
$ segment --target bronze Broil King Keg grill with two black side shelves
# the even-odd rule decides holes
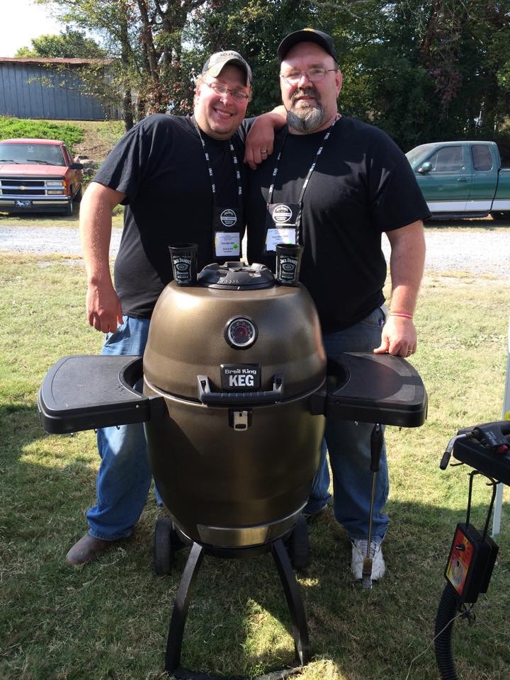
[[[143,394],[133,387],[142,375]],[[166,669],[179,676],[191,585],[204,553],[271,550],[293,618],[294,665],[307,662],[293,566],[307,562],[300,513],[319,465],[324,416],[419,426],[426,392],[412,366],[395,356],[351,353],[327,367],[307,290],[282,285],[265,266],[227,262],[205,267],[195,285],[166,286],[143,360],[64,357],[47,373],[38,407],[53,433],[145,423],[154,480],[171,518],[157,523],[157,571],[168,572],[178,539],[192,544],[166,650]]]

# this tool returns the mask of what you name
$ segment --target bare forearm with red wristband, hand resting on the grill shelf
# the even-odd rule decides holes
[[[416,351],[413,315],[425,262],[423,222],[417,220],[386,235],[391,246],[391,306],[381,344],[374,352],[408,357]]]

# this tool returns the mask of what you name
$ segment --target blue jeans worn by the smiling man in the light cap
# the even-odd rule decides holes
[[[142,355],[148,334],[149,319],[124,317],[123,325],[106,335],[102,353]],[[89,533],[103,540],[125,538],[140,519],[152,479],[144,426],[105,427],[98,430],[97,443],[101,465],[96,505],[86,513]]]

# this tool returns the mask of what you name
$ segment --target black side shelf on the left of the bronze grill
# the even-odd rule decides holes
[[[151,399],[135,390],[140,378],[141,356],[65,356],[40,387],[41,425],[62,434],[146,422]]]

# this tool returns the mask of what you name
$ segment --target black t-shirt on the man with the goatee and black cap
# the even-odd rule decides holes
[[[276,155],[284,140],[272,203],[297,203],[324,130],[276,135],[276,151],[249,173],[246,197],[248,259],[274,271],[264,255],[266,203]],[[385,132],[342,116],[324,143],[310,178],[299,242],[300,281],[317,305],[324,333],[361,321],[384,302],[386,262],[381,234],[429,217],[411,166]]]

